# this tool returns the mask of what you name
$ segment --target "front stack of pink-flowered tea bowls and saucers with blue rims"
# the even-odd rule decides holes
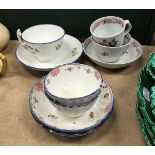
[[[49,132],[77,137],[103,125],[114,109],[114,96],[96,69],[72,63],[36,82],[29,106],[33,118]]]

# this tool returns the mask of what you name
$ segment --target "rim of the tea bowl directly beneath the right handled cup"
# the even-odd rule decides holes
[[[94,41],[94,39],[93,39],[92,36],[90,36],[90,39],[92,40],[93,44],[96,44],[97,46],[99,46],[99,47],[101,47],[101,48],[118,49],[118,48],[126,47],[126,46],[128,46],[128,45],[131,43],[131,41],[132,41],[131,35],[128,33],[126,36],[129,36],[130,41],[129,41],[127,44],[125,44],[125,45],[115,46],[115,47],[105,46],[105,45],[98,44],[97,42]]]

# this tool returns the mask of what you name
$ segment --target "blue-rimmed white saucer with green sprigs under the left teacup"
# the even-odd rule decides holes
[[[81,42],[70,36],[65,35],[63,45],[59,49],[58,56],[51,61],[41,62],[34,54],[24,48],[22,45],[16,50],[16,57],[23,65],[30,69],[38,71],[49,71],[59,65],[68,64],[77,61],[82,54]]]

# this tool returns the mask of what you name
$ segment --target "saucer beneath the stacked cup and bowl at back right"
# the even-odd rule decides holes
[[[97,65],[102,66],[104,68],[115,69],[115,68],[123,68],[129,66],[131,63],[136,61],[142,55],[142,46],[138,41],[132,38],[131,44],[118,61],[112,63],[106,63],[101,61],[97,52],[93,48],[93,43],[91,39],[85,40],[83,44],[84,53]]]

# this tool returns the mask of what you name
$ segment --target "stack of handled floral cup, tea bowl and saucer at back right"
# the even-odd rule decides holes
[[[85,54],[105,68],[122,68],[142,55],[141,45],[129,34],[128,20],[115,16],[102,17],[90,26],[91,37],[84,42]]]

